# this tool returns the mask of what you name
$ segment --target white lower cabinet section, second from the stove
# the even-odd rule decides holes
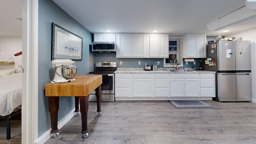
[[[133,96],[154,96],[154,74],[133,74]]]

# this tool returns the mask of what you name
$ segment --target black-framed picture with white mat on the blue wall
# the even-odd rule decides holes
[[[52,22],[52,60],[82,60],[83,39]]]

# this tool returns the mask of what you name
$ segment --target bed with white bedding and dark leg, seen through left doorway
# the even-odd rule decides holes
[[[6,119],[6,139],[10,140],[10,120],[21,113],[22,73],[0,70],[0,118]]]

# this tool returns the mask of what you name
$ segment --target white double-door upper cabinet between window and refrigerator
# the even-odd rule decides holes
[[[181,47],[182,58],[206,58],[206,34],[184,34]]]

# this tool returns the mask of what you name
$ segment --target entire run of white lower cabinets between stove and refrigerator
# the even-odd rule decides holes
[[[116,100],[215,97],[215,74],[115,74]]]

